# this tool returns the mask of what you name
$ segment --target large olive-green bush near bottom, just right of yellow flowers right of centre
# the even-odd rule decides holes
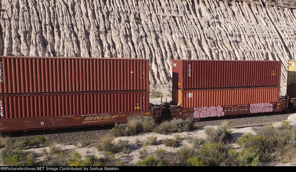
[[[205,143],[200,148],[200,158],[208,160],[210,166],[227,165],[229,147],[223,143]]]

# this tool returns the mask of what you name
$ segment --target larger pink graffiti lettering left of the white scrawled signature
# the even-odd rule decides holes
[[[224,116],[223,108],[221,106],[211,106],[211,107],[197,107],[193,108],[194,118],[206,118],[213,116]]]

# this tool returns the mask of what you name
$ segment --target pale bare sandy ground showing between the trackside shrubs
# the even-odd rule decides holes
[[[295,122],[296,122],[296,113],[289,116],[288,120],[290,122],[291,125],[295,126]],[[280,126],[281,122],[279,123],[275,123],[273,124],[275,126]],[[165,138],[173,138],[174,134],[156,134],[156,133],[152,133],[152,132],[145,132],[145,133],[140,133],[139,135],[136,136],[128,136],[128,137],[117,137],[114,139],[114,142],[117,143],[119,139],[121,140],[129,140],[129,144],[130,144],[130,151],[126,154],[123,154],[122,152],[116,153],[115,154],[115,158],[118,160],[122,160],[123,162],[125,162],[128,166],[132,166],[135,165],[136,162],[138,160],[140,160],[139,158],[139,150],[141,149],[141,142],[145,142],[147,140],[147,137],[150,136],[155,136],[157,137],[157,145],[147,145],[147,148],[149,150],[149,152],[153,152],[154,150],[158,149],[158,148],[162,148],[165,149],[166,152],[176,152],[176,150],[178,150],[181,145],[187,144],[190,145],[187,141],[186,138],[188,137],[200,137],[200,138],[205,138],[207,137],[207,135],[205,134],[205,127],[203,127],[202,129],[199,130],[195,130],[192,132],[182,132],[180,133],[183,137],[183,139],[181,141],[178,142],[177,147],[166,147],[164,144],[162,144],[162,140]],[[241,137],[243,134],[245,133],[252,133],[255,134],[255,132],[252,130],[251,127],[246,127],[246,128],[233,128],[232,130],[232,134],[233,137]],[[94,154],[96,155],[98,158],[103,156],[103,152],[98,151],[98,149],[96,149],[94,146],[74,146],[74,145],[58,145],[62,150],[69,150],[69,151],[77,151],[79,153],[81,153],[82,157],[85,157],[87,154]],[[233,145],[234,148],[239,149],[239,146],[234,144]],[[32,148],[32,149],[28,149],[26,150],[28,153],[33,153],[35,155],[37,155],[37,161],[41,161],[44,159],[44,156],[41,153],[41,150],[43,148],[46,148],[49,150],[49,147],[47,145],[44,145],[42,147],[38,147],[38,148]],[[276,166],[296,166],[296,160],[291,160],[290,162],[287,163],[277,163]]]

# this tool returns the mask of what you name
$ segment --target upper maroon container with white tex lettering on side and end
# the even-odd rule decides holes
[[[281,61],[173,59],[173,87],[181,90],[278,87]]]

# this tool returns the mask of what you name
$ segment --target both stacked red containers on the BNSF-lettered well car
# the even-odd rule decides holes
[[[0,56],[0,70],[1,119],[149,110],[147,59]]]

